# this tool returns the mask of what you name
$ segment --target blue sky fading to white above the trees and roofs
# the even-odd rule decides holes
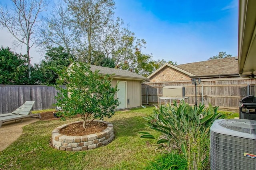
[[[4,0],[2,3],[8,1]],[[237,56],[237,0],[115,0],[115,17],[124,20],[138,39],[147,42],[144,53],[178,64],[205,61],[220,51]],[[0,29],[0,46],[13,49],[13,39]],[[32,63],[42,55],[32,49]]]

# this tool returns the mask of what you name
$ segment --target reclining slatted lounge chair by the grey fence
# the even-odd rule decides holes
[[[6,121],[12,120],[21,120],[26,117],[38,117],[41,119],[40,113],[32,114],[32,107],[34,106],[34,101],[26,101],[22,106],[18,107],[18,109],[14,110],[12,113],[2,114],[0,115],[0,127],[2,123]]]

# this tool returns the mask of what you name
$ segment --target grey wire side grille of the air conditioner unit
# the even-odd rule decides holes
[[[210,133],[211,170],[255,170],[256,159],[244,156],[255,154],[255,140]]]

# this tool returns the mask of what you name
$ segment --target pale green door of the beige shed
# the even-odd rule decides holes
[[[119,89],[117,92],[117,98],[119,100],[120,105],[117,109],[125,109],[126,108],[126,82],[118,82],[117,88]]]

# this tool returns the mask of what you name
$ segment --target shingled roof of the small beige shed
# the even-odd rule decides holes
[[[95,66],[95,65],[90,65],[90,70],[92,72],[96,70],[100,70],[100,74],[115,74],[111,77],[113,78],[125,78],[125,79],[131,79],[131,80],[148,80],[148,78],[144,76],[140,76],[134,72],[130,72],[128,70],[120,70],[116,68],[108,68],[108,67],[102,67],[102,66]]]

